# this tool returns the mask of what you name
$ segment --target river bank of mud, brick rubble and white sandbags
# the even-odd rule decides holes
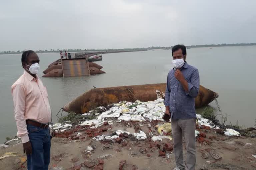
[[[120,102],[61,118],[52,127],[50,169],[174,168],[171,129],[162,120],[164,110],[163,99],[158,99]],[[221,129],[201,115],[197,119],[196,169],[256,168],[255,130],[240,133]],[[21,143],[1,148],[0,156],[6,152],[16,156],[0,160],[0,169],[26,169]]]

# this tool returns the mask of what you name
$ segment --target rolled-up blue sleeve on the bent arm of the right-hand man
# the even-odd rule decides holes
[[[198,72],[198,69],[196,69],[191,75],[191,81],[188,82],[188,92],[186,93],[186,95],[196,98],[199,92],[199,84],[200,84],[199,72]]]

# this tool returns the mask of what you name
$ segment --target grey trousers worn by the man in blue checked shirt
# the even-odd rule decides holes
[[[176,166],[180,170],[195,170],[196,166],[196,146],[195,146],[195,128],[196,119],[178,119],[171,120],[173,150]],[[186,143],[186,168],[183,161],[182,136]]]

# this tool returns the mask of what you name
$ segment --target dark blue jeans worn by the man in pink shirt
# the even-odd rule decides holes
[[[27,125],[32,154],[27,155],[28,170],[48,170],[50,164],[51,139],[48,128]]]

